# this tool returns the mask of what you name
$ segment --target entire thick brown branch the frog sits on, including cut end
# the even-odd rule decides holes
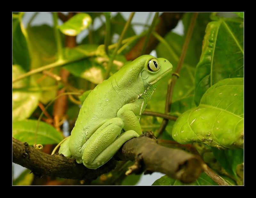
[[[148,135],[149,134],[149,135]],[[130,172],[162,172],[170,177],[177,178],[184,183],[195,181],[204,171],[205,164],[201,158],[183,150],[160,146],[152,133],[127,141],[115,157],[121,160],[135,161]],[[13,162],[20,164],[35,175],[47,175],[68,179],[91,181],[101,174],[113,170],[116,161],[112,158],[96,170],[87,169],[83,164],[77,164],[74,159],[62,155],[49,155],[30,147],[14,138]],[[135,167],[135,169],[134,169]]]

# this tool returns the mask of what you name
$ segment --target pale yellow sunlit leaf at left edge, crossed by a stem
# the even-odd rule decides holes
[[[12,78],[15,79],[25,71],[19,65],[12,66]],[[33,90],[34,88],[34,90]],[[34,112],[38,105],[41,91],[31,87],[29,78],[12,84],[12,120],[24,120]]]

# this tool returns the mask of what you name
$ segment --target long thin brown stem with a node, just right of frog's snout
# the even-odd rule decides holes
[[[179,73],[180,73],[181,67],[183,65],[184,59],[185,59],[186,54],[187,54],[188,44],[190,42],[194,27],[195,27],[197,15],[198,15],[198,12],[195,12],[192,16],[192,19],[190,21],[190,25],[189,25],[189,28],[188,28],[188,32],[187,32],[187,35],[186,35],[186,38],[185,38],[185,41],[184,41],[184,44],[183,44],[183,47],[182,47],[182,51],[181,51],[181,54],[180,54],[180,59],[179,59],[179,62],[178,62],[178,66],[176,67],[175,72],[172,74],[172,79],[171,79],[170,83],[168,84],[167,96],[166,96],[166,100],[165,100],[165,110],[164,110],[165,114],[169,114],[169,112],[171,111],[172,95],[173,95],[174,85],[176,83],[176,80],[179,78]],[[160,128],[158,129],[158,136],[164,131],[168,122],[169,122],[168,119],[163,120],[163,122],[161,123]]]

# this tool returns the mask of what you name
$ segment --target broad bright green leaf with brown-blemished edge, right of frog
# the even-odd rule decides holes
[[[198,107],[175,122],[172,138],[217,148],[244,146],[244,78],[227,78],[210,87]]]

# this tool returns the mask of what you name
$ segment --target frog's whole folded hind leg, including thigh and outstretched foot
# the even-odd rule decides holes
[[[90,169],[97,169],[110,160],[124,142],[138,137],[133,131],[126,131],[120,135],[124,127],[121,118],[112,118],[104,123],[84,144],[83,163]]]

